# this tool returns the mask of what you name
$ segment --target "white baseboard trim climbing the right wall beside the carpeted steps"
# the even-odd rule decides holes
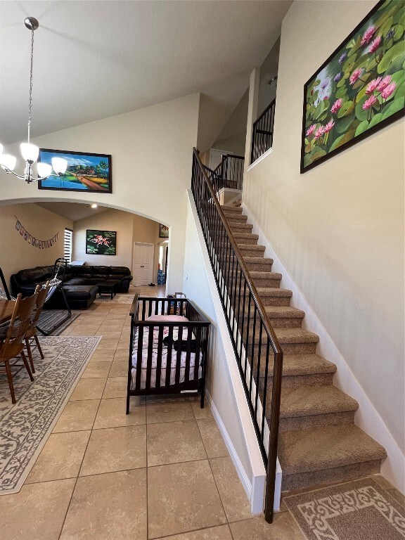
[[[359,381],[354,376],[354,373],[349,368],[349,364],[347,364],[347,361],[340,353],[338,347],[335,345],[335,342],[333,342],[332,338],[330,338],[326,328],[318,319],[318,316],[316,316],[316,313],[309,305],[297,283],[295,283],[294,279],[285,268],[283,262],[278,257],[271,243],[269,243],[269,240],[267,240],[266,236],[264,236],[264,233],[257,224],[255,217],[243,202],[242,207],[243,213],[248,216],[249,223],[253,225],[252,233],[259,235],[258,244],[264,245],[266,248],[264,257],[270,257],[273,259],[274,264],[272,270],[283,274],[281,287],[293,291],[291,305],[305,311],[305,318],[302,327],[319,335],[319,345],[317,351],[319,354],[321,354],[321,356],[324,356],[338,367],[338,372],[333,378],[333,384],[359,402],[359,411],[357,411],[356,415],[354,416],[354,423],[359,426],[361,430],[364,430],[364,432],[370,435],[370,437],[373,437],[373,439],[384,446],[385,450],[387,451],[387,458],[381,465],[381,474],[389,482],[391,482],[394,487],[399,489],[402,494],[404,494],[404,454],[402,454],[397,442],[395,442],[390,431],[387,429],[383,418],[381,418],[370,399],[368,399],[366,392],[364,392],[363,387],[361,387]]]

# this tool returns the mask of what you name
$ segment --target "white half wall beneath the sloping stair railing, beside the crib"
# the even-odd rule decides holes
[[[182,290],[212,321],[207,392],[252,513],[259,513],[263,507],[264,464],[191,193],[189,197]]]

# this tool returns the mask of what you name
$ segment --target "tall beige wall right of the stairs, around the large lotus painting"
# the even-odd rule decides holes
[[[243,198],[404,449],[403,120],[300,174],[304,83],[373,6],[295,1],[290,8],[274,146],[248,173]]]

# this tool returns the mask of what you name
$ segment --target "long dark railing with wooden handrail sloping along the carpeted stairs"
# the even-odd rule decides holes
[[[265,518],[273,520],[283,352],[248,267],[194,148],[191,189],[259,447],[266,465]],[[272,378],[271,397],[268,383]],[[266,421],[269,418],[269,423]]]

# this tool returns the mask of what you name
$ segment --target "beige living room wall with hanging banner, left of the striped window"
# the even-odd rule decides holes
[[[59,233],[58,241],[51,248],[35,248],[15,229],[15,217],[37,240],[49,240]],[[58,257],[63,257],[65,228],[73,229],[70,219],[34,204],[0,207],[0,266],[8,285],[11,274],[25,268],[53,264]]]

